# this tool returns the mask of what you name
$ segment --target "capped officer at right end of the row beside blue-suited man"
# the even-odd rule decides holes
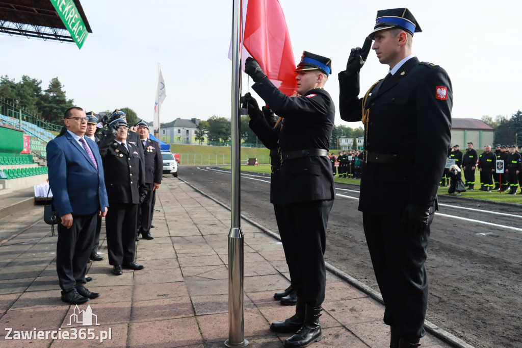
[[[160,144],[149,138],[149,125],[145,121],[139,121],[135,125],[143,148],[145,149],[145,186],[147,196],[139,205],[138,236],[144,239],[154,239],[150,234],[152,221],[152,195],[161,184],[163,178],[163,158],[161,157]]]

